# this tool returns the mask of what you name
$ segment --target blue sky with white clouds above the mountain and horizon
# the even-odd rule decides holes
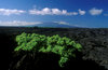
[[[108,28],[108,0],[0,0],[0,26],[55,22]]]

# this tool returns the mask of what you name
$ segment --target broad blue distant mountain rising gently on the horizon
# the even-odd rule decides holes
[[[49,28],[82,28],[82,27],[78,27],[78,26],[72,26],[72,25],[69,25],[69,24],[60,24],[60,23],[54,23],[54,22],[51,22],[51,23],[42,23],[42,24],[35,24],[35,25],[27,25],[27,26],[0,26],[0,28],[2,27],[49,27]]]

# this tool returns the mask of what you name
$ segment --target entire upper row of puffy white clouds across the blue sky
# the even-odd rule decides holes
[[[89,10],[90,15],[100,15],[103,14],[104,10],[103,9],[96,9],[92,8]],[[85,15],[87,11],[79,9],[78,11],[73,12],[68,12],[67,10],[59,10],[59,9],[50,9],[50,8],[43,8],[41,10],[38,9],[32,9],[32,10],[16,10],[16,9],[0,9],[0,15],[21,15],[21,14],[29,14],[29,15],[67,15],[67,16],[72,16],[72,15]]]

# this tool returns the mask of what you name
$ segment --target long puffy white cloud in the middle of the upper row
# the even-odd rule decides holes
[[[44,8],[42,10],[29,10],[32,15],[78,15],[77,12],[67,12],[67,10]]]

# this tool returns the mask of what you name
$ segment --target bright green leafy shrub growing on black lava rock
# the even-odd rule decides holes
[[[15,52],[52,52],[59,55],[60,60],[58,64],[60,67],[64,67],[64,64],[68,61],[70,57],[76,57],[75,51],[80,52],[82,48],[79,43],[76,43],[66,37],[60,38],[58,34],[46,37],[36,33],[22,33],[16,37],[16,42],[18,46],[15,47]]]

